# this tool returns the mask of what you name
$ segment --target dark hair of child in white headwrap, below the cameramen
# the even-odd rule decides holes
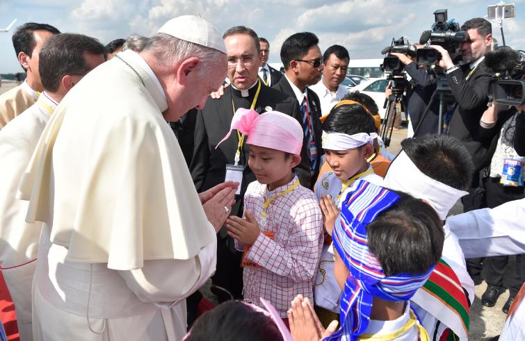
[[[456,190],[470,187],[474,163],[458,139],[449,135],[424,135],[403,140],[401,147],[426,176]]]

